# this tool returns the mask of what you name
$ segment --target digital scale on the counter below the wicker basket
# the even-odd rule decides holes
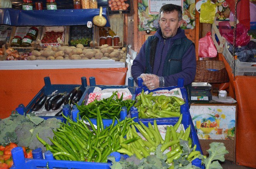
[[[191,90],[191,101],[210,101],[212,85],[207,82],[193,82]]]

